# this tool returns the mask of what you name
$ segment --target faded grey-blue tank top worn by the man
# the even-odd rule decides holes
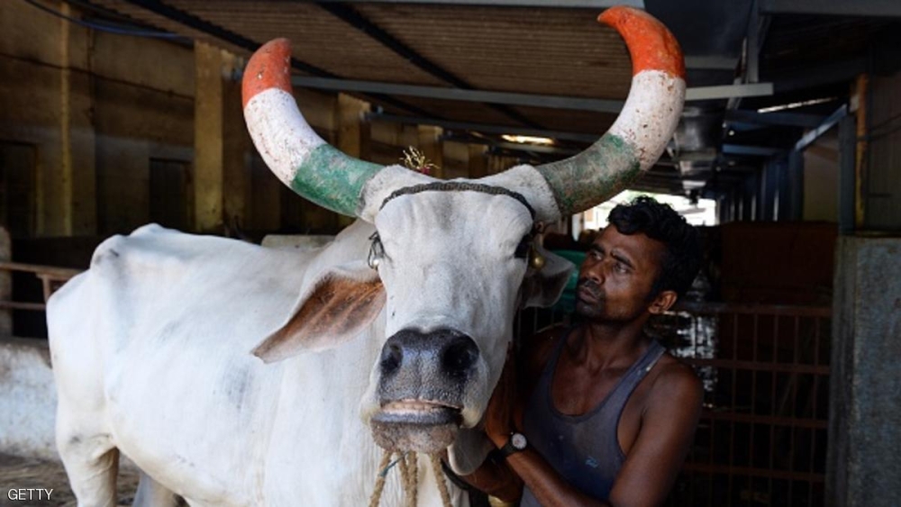
[[[569,334],[567,335],[569,338]],[[582,493],[606,501],[616,474],[625,461],[623,449],[616,438],[620,415],[635,387],[666,351],[656,340],[610,394],[598,405],[580,415],[567,415],[554,408],[551,400],[551,380],[557,369],[560,351],[567,339],[560,340],[544,367],[523,416],[523,434],[529,445],[537,450],[551,467],[570,485]],[[526,486],[522,507],[537,507]]]

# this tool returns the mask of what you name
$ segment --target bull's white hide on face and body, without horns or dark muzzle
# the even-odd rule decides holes
[[[382,452],[367,425],[379,406],[378,358],[387,336],[409,327],[460,330],[478,345],[460,399],[464,430],[449,448],[459,471],[478,466],[490,445],[465,429],[500,376],[516,303],[553,303],[571,265],[549,257],[541,272],[527,270],[514,253],[532,218],[509,195],[403,195],[376,226],[378,273],[366,263],[375,231],[366,222],[306,251],[155,225],[106,240],[48,308],[57,441],[79,498],[113,494],[97,457],[118,448],[196,505],[367,502]],[[318,301],[327,276],[378,277],[384,309],[262,353],[277,362],[252,355]],[[419,503],[440,504],[421,462]],[[383,494],[383,505],[400,504],[396,475]]]

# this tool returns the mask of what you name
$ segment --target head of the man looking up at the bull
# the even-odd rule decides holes
[[[642,196],[610,213],[579,271],[578,314],[633,321],[665,312],[700,268],[698,234],[669,205]]]

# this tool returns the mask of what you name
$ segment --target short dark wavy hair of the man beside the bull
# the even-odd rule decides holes
[[[610,223],[622,234],[642,232],[666,246],[651,296],[668,290],[676,291],[679,297],[686,293],[701,268],[701,245],[694,226],[669,204],[660,204],[647,195],[617,205],[610,212]]]

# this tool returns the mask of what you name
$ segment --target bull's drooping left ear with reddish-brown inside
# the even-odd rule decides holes
[[[385,289],[363,262],[332,267],[310,283],[294,311],[253,354],[267,363],[331,349],[357,336],[381,312]]]

